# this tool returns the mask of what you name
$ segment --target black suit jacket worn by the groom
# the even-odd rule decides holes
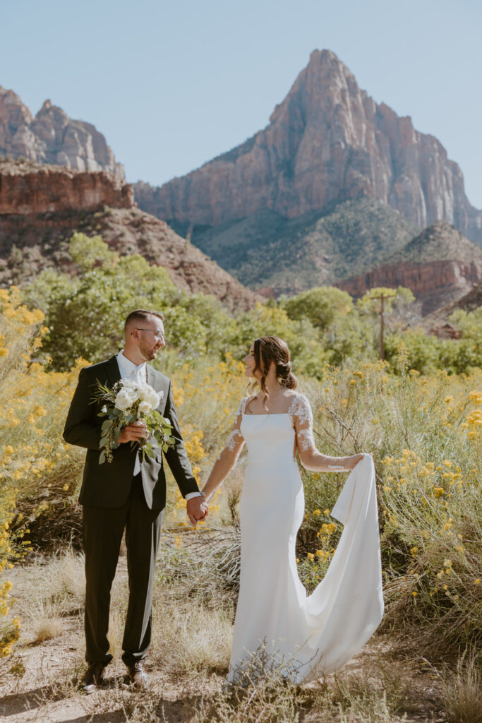
[[[100,361],[92,367],[85,367],[79,374],[79,382],[65,423],[64,440],[71,445],[87,448],[79,496],[81,505],[121,507],[129,496],[138,445],[132,446],[130,442],[125,442],[113,450],[112,462],[99,464],[100,427],[104,418],[98,416],[98,413],[103,404],[97,401],[92,403],[97,381],[112,387],[120,378],[116,356],[111,356],[107,361]],[[147,384],[157,392],[163,392],[158,411],[171,420],[172,436],[176,440],[175,447],[165,453],[165,458],[181,494],[185,497],[189,492],[199,492],[179,429],[171,380],[147,365]],[[147,506],[151,510],[162,510],[165,508],[163,451],[154,437],[150,437],[150,442],[155,450],[154,458],[146,456],[142,461],[142,455],[139,455],[142,486]]]

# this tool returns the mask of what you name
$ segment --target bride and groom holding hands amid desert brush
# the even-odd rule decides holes
[[[228,680],[241,679],[260,647],[272,667],[301,683],[343,665],[382,619],[382,576],[371,456],[330,457],[314,443],[313,418],[298,392],[288,346],[257,338],[244,358],[250,396],[241,400],[231,433],[202,491],[192,474],[173,403],[171,380],[148,364],[165,346],[164,317],[137,309],[125,322],[124,349],[79,374],[64,440],[87,449],[79,502],[85,547],[86,693],[100,685],[111,661],[108,642],[111,586],[126,534],[129,604],[122,659],[134,688],[149,679],[145,657],[152,628],[152,585],[165,508],[167,461],[192,524],[235,466],[246,442],[248,463],[240,503],[241,578]],[[145,425],[129,424],[109,463],[99,463],[102,416],[94,390],[119,380],[147,382],[160,396],[158,410],[171,423],[165,452],[150,437],[152,456],[141,455]],[[350,471],[332,515],[343,534],[324,579],[309,596],[296,569],[296,533],[304,517],[297,458],[317,472]]]

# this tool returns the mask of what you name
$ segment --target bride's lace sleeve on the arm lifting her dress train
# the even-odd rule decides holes
[[[313,436],[313,413],[306,397],[296,394],[288,412],[296,432],[301,464],[314,472],[348,471],[346,457],[328,457],[317,450]]]

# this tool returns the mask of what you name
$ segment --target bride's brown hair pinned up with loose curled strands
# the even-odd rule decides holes
[[[277,380],[282,387],[286,389],[296,389],[298,386],[296,377],[291,372],[291,354],[288,349],[288,344],[283,341],[283,339],[280,339],[279,336],[260,336],[255,339],[254,362],[256,366],[254,367],[254,371],[261,372],[261,379],[254,377],[254,379],[249,382],[248,388],[252,394],[254,388],[259,386],[264,395],[262,402],[264,408],[266,408],[267,399],[270,398],[266,386],[266,377],[270,371],[272,361],[275,362]]]

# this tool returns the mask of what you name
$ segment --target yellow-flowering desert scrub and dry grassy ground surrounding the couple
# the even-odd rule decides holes
[[[345,362],[325,364],[316,379],[300,375],[319,449],[369,452],[376,467],[387,608],[382,628],[353,667],[296,690],[276,675],[247,681],[237,692],[223,687],[238,586],[244,453],[206,523],[194,531],[170,479],[155,584],[152,691],[133,702],[122,688],[127,588],[121,558],[111,611],[115,662],[106,690],[88,702],[75,690],[83,658],[76,500],[84,453],[61,439],[87,361],[54,371],[38,356],[42,313],[23,306],[15,289],[0,290],[0,303],[0,675],[2,695],[20,719],[29,719],[22,717],[27,703],[39,719],[59,719],[48,716],[70,706],[72,719],[95,715],[99,722],[162,721],[163,709],[168,721],[181,716],[197,723],[388,722],[404,712],[421,719],[423,711],[428,717],[422,719],[480,719],[480,370],[421,375],[400,345],[391,367]],[[173,378],[186,448],[202,482],[245,394],[243,367],[229,352],[222,360],[204,355],[181,363],[173,350],[156,365]],[[302,474],[298,570],[310,591],[340,536],[330,510],[346,474]],[[0,714],[7,712],[0,708]]]

